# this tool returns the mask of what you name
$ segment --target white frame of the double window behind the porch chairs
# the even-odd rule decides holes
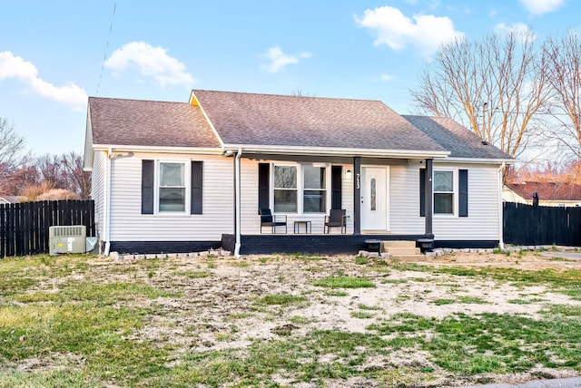
[[[324,211],[320,212],[304,212],[304,167],[318,167],[325,169],[325,209]],[[297,169],[297,211],[296,212],[283,212],[283,211],[276,211],[274,206],[274,170],[275,167],[295,167]],[[322,190],[322,189],[321,189]],[[287,215],[314,215],[314,214],[326,214],[329,212],[330,209],[330,164],[329,163],[300,163],[300,162],[291,162],[291,161],[276,161],[271,163],[271,190],[270,190],[270,197],[271,197],[271,204],[272,204],[272,212],[276,214],[287,214]]]

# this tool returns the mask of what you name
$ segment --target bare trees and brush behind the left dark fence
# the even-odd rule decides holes
[[[91,173],[83,170],[83,157],[74,152],[34,156],[15,125],[0,117],[0,196],[20,201],[88,199]]]

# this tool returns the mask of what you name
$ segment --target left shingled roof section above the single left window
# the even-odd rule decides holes
[[[186,102],[89,97],[93,144],[220,148],[200,108]]]

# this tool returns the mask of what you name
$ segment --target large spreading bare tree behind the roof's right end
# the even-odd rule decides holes
[[[419,110],[447,116],[512,157],[527,149],[547,101],[547,65],[535,36],[489,34],[442,45],[411,91]]]

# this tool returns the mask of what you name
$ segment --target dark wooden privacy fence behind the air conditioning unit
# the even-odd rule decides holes
[[[95,236],[93,200],[0,205],[0,257],[48,253],[48,228],[84,225]]]

